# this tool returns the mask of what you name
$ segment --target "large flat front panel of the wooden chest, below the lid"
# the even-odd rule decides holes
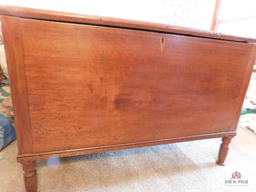
[[[236,131],[252,44],[20,20],[34,152]]]

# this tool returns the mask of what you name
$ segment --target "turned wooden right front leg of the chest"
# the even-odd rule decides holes
[[[216,164],[218,164],[219,166],[224,166],[224,161],[228,155],[229,144],[232,138],[234,138],[234,136],[222,138],[222,144],[220,146],[218,160],[216,161]]]

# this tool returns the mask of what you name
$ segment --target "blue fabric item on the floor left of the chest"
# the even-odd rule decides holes
[[[11,122],[0,114],[0,151],[14,139],[16,139],[16,133]]]

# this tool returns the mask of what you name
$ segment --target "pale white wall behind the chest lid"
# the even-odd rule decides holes
[[[216,0],[0,0],[0,4],[210,29]]]

